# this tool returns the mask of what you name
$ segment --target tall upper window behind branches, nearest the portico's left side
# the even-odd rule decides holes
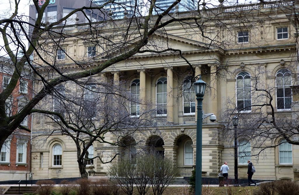
[[[84,89],[84,114],[86,118],[94,118],[97,112],[97,86],[87,85]]]

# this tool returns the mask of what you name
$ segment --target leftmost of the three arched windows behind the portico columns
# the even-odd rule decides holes
[[[140,97],[140,80],[135,79],[131,83],[130,87],[131,93],[131,106],[130,106],[130,114],[131,116],[139,116],[140,114],[140,105],[139,105],[139,97]]]

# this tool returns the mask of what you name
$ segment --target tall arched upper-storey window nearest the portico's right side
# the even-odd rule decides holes
[[[251,78],[248,72],[240,72],[237,76],[237,109],[251,110]]]

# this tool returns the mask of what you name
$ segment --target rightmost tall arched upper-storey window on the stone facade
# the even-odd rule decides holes
[[[291,109],[292,103],[292,78],[287,69],[281,69],[276,74],[276,100],[277,109]]]

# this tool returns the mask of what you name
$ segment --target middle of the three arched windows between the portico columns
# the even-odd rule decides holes
[[[157,114],[167,114],[167,78],[159,78],[157,82]]]

